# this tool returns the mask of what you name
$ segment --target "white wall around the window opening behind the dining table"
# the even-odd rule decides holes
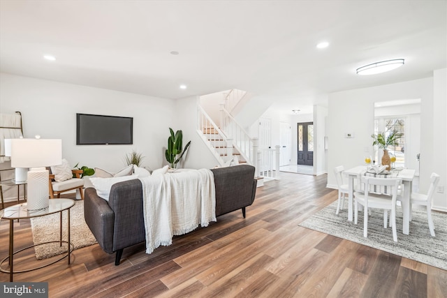
[[[367,154],[365,148],[368,149],[369,154],[372,154],[370,135],[374,132],[374,102],[379,101],[420,98],[420,191],[423,193],[427,191],[427,177],[430,177],[434,169],[442,167],[445,173],[446,140],[444,137],[434,138],[434,131],[438,132],[437,135],[442,136],[445,135],[444,130],[446,129],[444,114],[446,93],[444,91],[443,94],[442,90],[438,91],[438,89],[445,88],[445,70],[440,71],[439,74],[435,73],[435,77],[435,81],[440,87],[434,87],[434,78],[428,77],[379,87],[340,91],[329,95],[328,187],[337,185],[335,176],[330,169],[337,165],[349,168],[362,164],[363,156]],[[436,98],[437,105],[443,107],[440,107],[437,113],[434,113],[434,88],[437,89],[435,93],[439,92]],[[443,100],[444,105],[442,104]],[[442,118],[444,118],[444,122],[440,123]],[[435,123],[439,123],[437,128],[434,128]],[[355,137],[345,138],[344,133],[354,133]],[[437,149],[434,149],[435,142],[439,144]],[[433,158],[434,154],[443,148],[444,151],[439,151],[437,158],[444,154],[444,161],[443,158]],[[434,200],[434,207],[446,209],[445,193]]]

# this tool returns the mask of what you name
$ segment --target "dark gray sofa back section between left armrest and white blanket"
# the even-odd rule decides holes
[[[113,184],[108,204],[115,214],[113,251],[145,241],[141,181],[133,179]]]

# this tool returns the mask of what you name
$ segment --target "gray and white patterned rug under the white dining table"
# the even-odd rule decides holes
[[[402,209],[397,207],[397,242],[395,242],[391,228],[383,228],[383,211],[373,209],[372,216],[368,220],[368,237],[365,238],[363,211],[359,211],[356,225],[353,221],[348,221],[346,202],[345,206],[339,215],[336,215],[337,201],[335,201],[307,218],[300,223],[300,226],[447,270],[447,214],[432,211],[436,234],[436,237],[432,237],[428,230],[425,209],[413,209],[410,232],[405,235],[402,234]]]

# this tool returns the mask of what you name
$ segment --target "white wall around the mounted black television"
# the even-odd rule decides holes
[[[73,166],[79,162],[117,171],[133,149],[145,156],[143,165],[152,169],[166,163],[163,146],[175,119],[175,100],[6,73],[0,73],[0,86],[0,112],[22,112],[24,137],[61,138],[63,157]],[[133,117],[133,144],[76,145],[78,112]]]

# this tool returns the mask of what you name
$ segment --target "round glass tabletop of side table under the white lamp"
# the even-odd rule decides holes
[[[49,206],[47,208],[38,210],[28,210],[27,203],[16,204],[14,206],[7,207],[0,210],[0,218],[5,219],[22,219],[32,218],[38,216],[44,216],[48,214],[57,213],[70,209],[75,204],[75,200],[72,199],[50,199]]]

